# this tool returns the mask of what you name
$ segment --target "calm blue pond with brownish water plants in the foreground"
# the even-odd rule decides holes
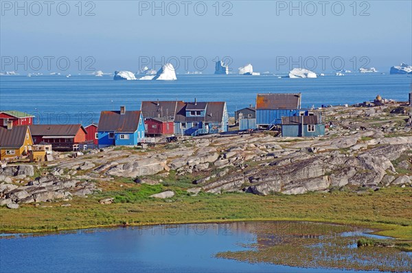
[[[357,248],[367,231],[310,222],[234,222],[3,234],[0,272],[411,270],[409,252]]]

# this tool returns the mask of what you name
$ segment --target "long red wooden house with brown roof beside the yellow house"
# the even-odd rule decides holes
[[[44,141],[62,151],[77,151],[87,135],[81,124],[37,124],[30,126],[30,131],[34,144]]]

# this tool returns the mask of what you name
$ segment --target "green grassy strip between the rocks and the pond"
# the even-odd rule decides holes
[[[135,185],[131,182],[99,182],[99,195],[75,198],[71,206],[61,202],[41,207],[0,207],[1,231],[31,232],[119,224],[171,224],[258,219],[290,219],[368,226],[378,234],[412,241],[412,189],[389,188],[362,195],[343,191],[304,195],[258,196],[247,193],[189,196],[181,188]],[[122,185],[122,187],[120,187]],[[170,200],[148,195],[165,189],[176,192]],[[115,197],[115,204],[98,200]]]

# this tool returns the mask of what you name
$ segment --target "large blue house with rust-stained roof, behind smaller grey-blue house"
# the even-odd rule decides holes
[[[301,112],[301,93],[266,93],[256,97],[256,126],[271,130],[282,117],[306,115]]]

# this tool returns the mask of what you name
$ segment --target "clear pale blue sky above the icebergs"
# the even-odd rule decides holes
[[[0,71],[412,64],[412,1],[0,1]]]

